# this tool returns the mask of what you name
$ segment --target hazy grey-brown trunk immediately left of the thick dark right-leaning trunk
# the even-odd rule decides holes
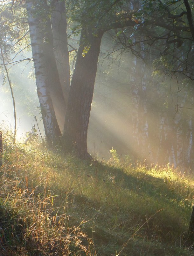
[[[70,90],[69,51],[67,47],[67,21],[65,1],[56,1],[52,11],[54,54],[66,107]],[[64,115],[65,117],[65,115]]]

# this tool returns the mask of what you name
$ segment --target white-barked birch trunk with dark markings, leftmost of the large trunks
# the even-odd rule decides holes
[[[55,145],[59,141],[61,133],[55,116],[52,100],[49,95],[49,79],[43,51],[43,30],[40,29],[39,19],[37,14],[34,14],[32,7],[33,1],[26,1],[37,93],[47,142],[50,145]]]

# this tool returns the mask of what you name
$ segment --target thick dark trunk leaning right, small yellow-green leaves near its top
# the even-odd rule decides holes
[[[82,28],[62,137],[65,149],[83,159],[89,156],[87,129],[102,35],[103,32],[95,36],[92,30]]]

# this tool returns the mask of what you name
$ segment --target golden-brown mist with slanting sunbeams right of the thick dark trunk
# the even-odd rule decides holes
[[[156,72],[149,59],[112,47],[105,35],[88,130],[89,152],[109,158],[114,148],[132,163],[189,168],[193,164],[190,79]]]

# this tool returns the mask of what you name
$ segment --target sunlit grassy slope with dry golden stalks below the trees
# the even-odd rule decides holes
[[[0,255],[194,255],[194,179],[168,167],[121,168],[113,153],[109,164],[90,163],[6,146]]]

